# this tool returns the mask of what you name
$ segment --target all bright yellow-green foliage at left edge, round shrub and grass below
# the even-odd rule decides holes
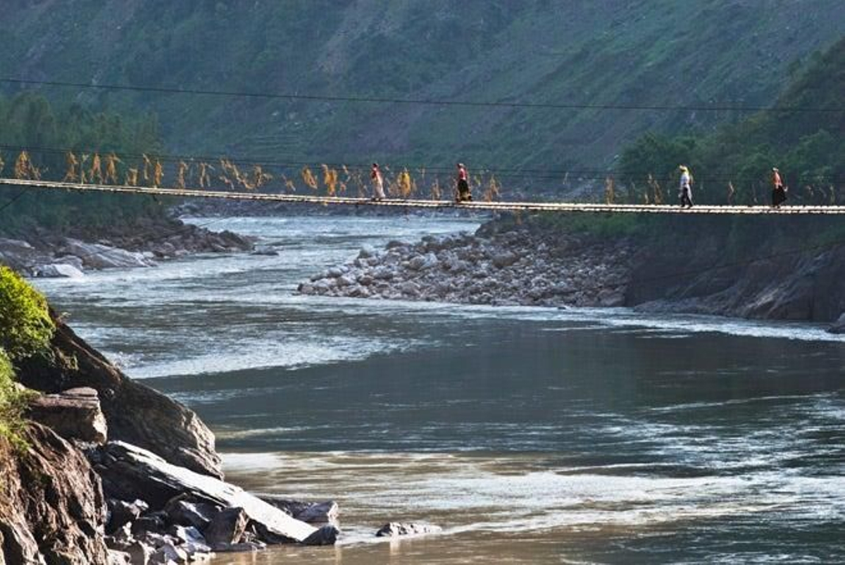
[[[14,384],[14,361],[43,354],[55,330],[46,299],[0,266],[0,438],[20,445],[27,395]]]

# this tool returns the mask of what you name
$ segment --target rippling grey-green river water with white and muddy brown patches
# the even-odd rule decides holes
[[[195,220],[206,223],[208,220]],[[228,218],[279,255],[36,281],[334,548],[215,564],[845,561],[845,339],[818,326],[300,296],[447,218]],[[388,521],[443,533],[384,541]]]

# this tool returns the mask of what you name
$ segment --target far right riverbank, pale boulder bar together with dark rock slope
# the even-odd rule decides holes
[[[802,234],[817,230],[786,225],[793,220],[741,230],[721,218],[680,220],[666,221],[675,223],[666,226],[665,234],[639,237],[493,221],[473,234],[362,249],[346,264],[302,282],[298,290],[368,299],[842,320],[845,246],[807,244]],[[770,237],[750,239],[744,247],[736,244],[738,231],[757,230]],[[831,330],[842,326],[845,322]]]

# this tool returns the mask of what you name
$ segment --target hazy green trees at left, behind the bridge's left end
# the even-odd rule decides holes
[[[25,150],[31,163],[25,177],[61,180],[71,151],[79,162],[78,172],[91,167],[95,153],[103,158],[112,152],[123,156],[115,171],[123,179],[128,167],[138,166],[142,154],[161,151],[161,140],[153,116],[129,121],[114,112],[90,112],[79,103],[54,106],[40,95],[0,96],[0,176],[15,176]],[[144,197],[17,195],[19,189],[0,187],[0,206],[5,207],[0,211],[0,235],[25,237],[35,225],[62,229],[125,222],[158,211],[155,202]]]

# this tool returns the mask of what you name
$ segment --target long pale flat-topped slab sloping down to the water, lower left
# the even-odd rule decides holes
[[[91,457],[109,496],[122,500],[144,496],[150,507],[161,508],[174,496],[188,494],[191,500],[243,508],[248,520],[261,524],[270,534],[280,538],[303,541],[315,531],[313,526],[288,516],[240,487],[169,464],[128,443],[106,443]],[[207,529],[204,534],[208,535]]]

